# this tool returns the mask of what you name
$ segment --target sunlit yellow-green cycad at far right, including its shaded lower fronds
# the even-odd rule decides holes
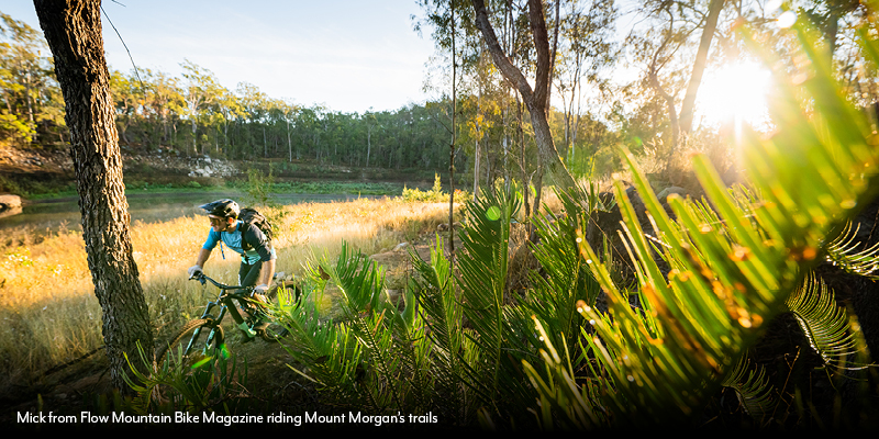
[[[765,415],[764,374],[748,371],[744,357],[783,312],[793,313],[825,365],[844,363],[857,351],[857,331],[811,270],[826,258],[870,275],[876,249],[858,251],[849,239],[834,236],[876,194],[879,150],[867,119],[838,93],[813,40],[802,29],[797,32],[813,70],[801,89],[778,80],[775,136],[746,133],[747,188],[727,189],[708,159],[697,156],[693,166],[706,201],[669,196],[669,215],[634,158],[625,156],[649,217],[644,229],[617,183],[624,244],[637,282],[614,282],[609,267],[596,263],[596,251],[580,239],[581,257],[593,262],[589,267],[608,295],[610,313],[581,303],[582,316],[594,322],[594,333],[582,337],[594,364],[586,383],[575,381],[558,346],[547,344],[543,373],[528,368],[541,406],[565,414],[547,413],[544,427],[697,426],[704,421],[700,415],[708,398],[722,385],[736,391],[748,413]],[[876,43],[865,45],[875,53]],[[800,91],[815,116],[797,104]],[[643,309],[630,306],[633,294]]]

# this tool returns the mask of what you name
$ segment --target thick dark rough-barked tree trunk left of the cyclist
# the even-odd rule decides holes
[[[153,327],[132,257],[100,2],[34,0],[34,5],[64,94],[82,237],[94,295],[103,309],[110,376],[115,387],[131,393],[123,380],[125,354],[132,364],[146,370],[137,347],[143,348],[146,358],[153,358]]]

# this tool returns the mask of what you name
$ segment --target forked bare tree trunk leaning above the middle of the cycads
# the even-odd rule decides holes
[[[549,123],[546,119],[548,110],[547,104],[549,102],[549,71],[553,66],[549,59],[549,37],[546,31],[543,2],[541,2],[541,0],[528,0],[528,20],[531,21],[534,47],[537,52],[537,71],[534,89],[532,90],[531,85],[528,85],[522,71],[513,66],[498,43],[494,29],[488,20],[485,1],[471,1],[474,10],[476,11],[476,25],[482,33],[482,37],[491,53],[494,65],[498,67],[498,70],[501,71],[504,79],[519,90],[522,100],[528,109],[531,124],[534,128],[534,139],[537,144],[537,151],[541,155],[544,169],[553,176],[553,180],[559,189],[568,190],[576,187],[574,178],[558,157],[558,150],[553,143],[553,134],[549,131]]]

